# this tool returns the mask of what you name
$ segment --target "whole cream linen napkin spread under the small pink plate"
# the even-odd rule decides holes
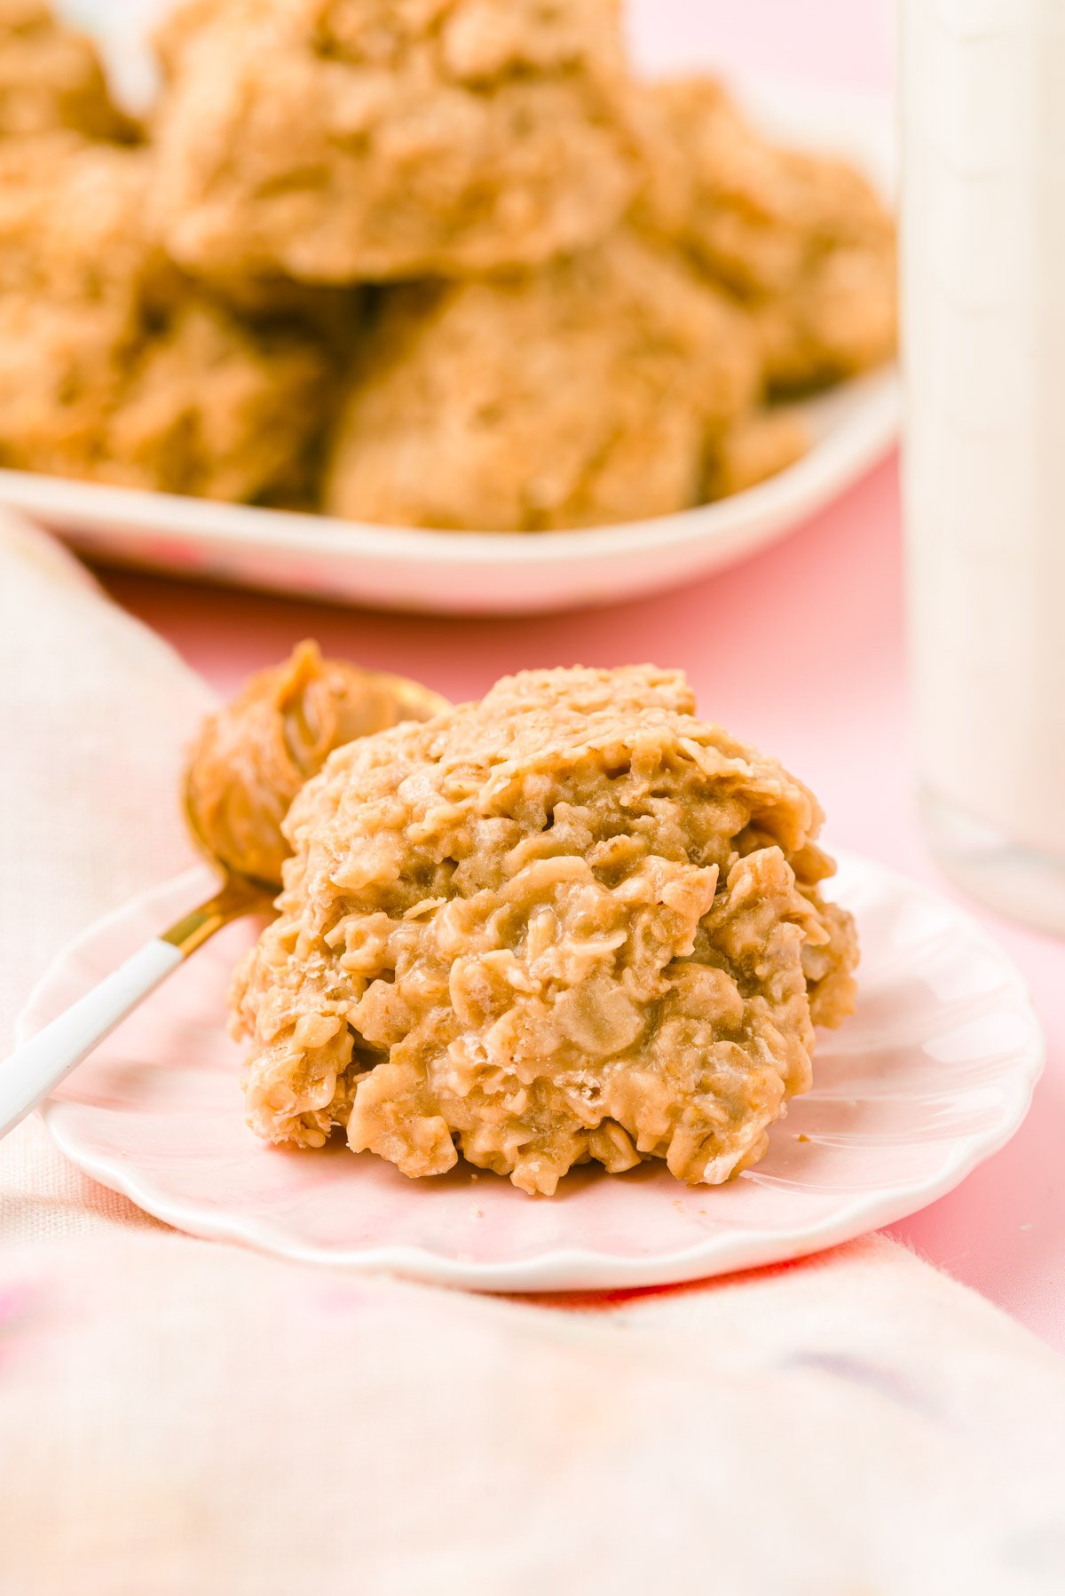
[[[51,953],[188,862],[208,704],[0,523],[5,1047]],[[0,1238],[5,1596],[1065,1590],[1065,1363],[883,1237],[476,1298],[179,1237],[34,1122],[0,1144]]]

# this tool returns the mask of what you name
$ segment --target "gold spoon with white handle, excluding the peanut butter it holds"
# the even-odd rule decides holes
[[[412,710],[410,718],[431,720],[450,709],[447,699],[418,681],[386,672],[367,672],[367,675],[378,686],[391,689],[396,702]],[[313,772],[308,772],[308,777],[310,774]],[[244,915],[268,913],[281,883],[243,871],[232,859],[224,859],[211,847],[192,803],[192,776],[193,764],[185,771],[182,793],[185,824],[196,849],[220,875],[219,891],[206,903],[182,916],[169,930],[147,942],[11,1053],[0,1069],[0,1136],[13,1130],[30,1109],[54,1092],[120,1020],[125,1020],[160,982],[201,948],[208,937]]]

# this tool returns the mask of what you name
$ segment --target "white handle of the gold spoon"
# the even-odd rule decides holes
[[[155,937],[0,1065],[0,1136],[37,1108],[182,962]]]

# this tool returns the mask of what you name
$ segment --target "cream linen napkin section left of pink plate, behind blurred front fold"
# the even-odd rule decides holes
[[[0,519],[0,1058],[49,959],[193,860],[184,749],[212,694],[109,603],[57,543]],[[34,1117],[0,1141],[0,1238],[148,1224],[53,1151]]]

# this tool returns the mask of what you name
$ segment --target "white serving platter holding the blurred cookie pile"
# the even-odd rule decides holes
[[[849,156],[891,193],[888,102],[795,85],[746,83],[739,93],[779,136]],[[14,471],[0,471],[0,504],[102,562],[382,610],[532,614],[675,587],[800,527],[894,442],[897,372],[800,409],[813,448],[768,482],[677,516],[581,531],[425,531]]]

